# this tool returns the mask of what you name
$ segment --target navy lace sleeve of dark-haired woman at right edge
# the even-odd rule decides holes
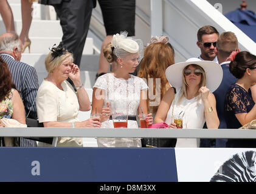
[[[227,110],[232,110],[234,114],[247,113],[247,100],[244,98],[245,94],[243,89],[234,87],[227,94]]]

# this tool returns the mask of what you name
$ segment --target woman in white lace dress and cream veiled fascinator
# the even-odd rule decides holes
[[[112,119],[109,119],[113,104],[128,105],[127,128],[138,128],[137,113],[147,113],[147,89],[148,86],[142,78],[130,75],[136,70],[140,59],[143,57],[143,44],[141,40],[126,38],[127,33],[113,36],[105,50],[105,58],[108,62],[116,61],[118,67],[113,73],[100,76],[94,85],[92,96],[92,114],[102,113],[102,128],[114,128]],[[151,114],[148,114],[149,124],[153,123]],[[100,147],[141,147],[140,138],[98,138]]]

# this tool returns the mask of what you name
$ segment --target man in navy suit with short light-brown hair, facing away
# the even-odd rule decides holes
[[[229,56],[235,51],[239,52],[237,36],[235,36],[235,34],[232,32],[221,33],[216,44],[216,55],[221,68],[223,69],[223,79],[218,89],[213,92],[216,99],[218,118],[220,119],[219,129],[227,128],[224,118],[224,103],[226,93],[230,85],[237,82],[237,78],[235,78],[235,76],[229,71],[229,63],[232,60],[229,58]],[[201,139],[200,147],[226,147],[226,142],[227,139]]]

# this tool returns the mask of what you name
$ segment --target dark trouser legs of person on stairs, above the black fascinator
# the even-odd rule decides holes
[[[73,53],[74,64],[80,66],[96,0],[40,0],[40,3],[54,6],[63,30],[63,47]]]

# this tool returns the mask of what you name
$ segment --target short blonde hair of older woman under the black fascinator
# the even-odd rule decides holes
[[[56,67],[62,64],[63,61],[74,61],[72,53],[66,52],[66,54],[57,56],[54,58],[52,56],[52,51],[46,56],[46,59],[44,61],[44,64],[46,65],[46,71],[48,73],[52,73]]]

